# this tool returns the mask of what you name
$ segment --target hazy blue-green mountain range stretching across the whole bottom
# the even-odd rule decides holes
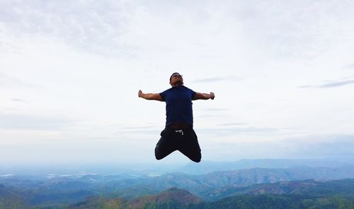
[[[125,176],[127,178],[121,174],[82,173],[42,177],[2,175],[0,208],[89,208],[89,205],[94,208],[97,204],[108,208],[127,205],[149,208],[149,204],[152,208],[171,205],[208,208],[227,201],[247,205],[256,203],[258,198],[264,201],[279,199],[284,203],[297,199],[297,203],[305,201],[318,205],[321,196],[326,201],[350,204],[354,191],[354,165],[346,164]]]

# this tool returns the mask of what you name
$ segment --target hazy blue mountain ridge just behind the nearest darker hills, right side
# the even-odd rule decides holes
[[[299,167],[292,169],[240,169],[228,172],[213,172],[203,175],[166,174],[160,177],[112,181],[105,186],[105,191],[115,191],[134,186],[149,187],[163,191],[178,187],[209,198],[210,191],[224,186],[250,186],[252,184],[275,183],[305,179],[350,179],[354,178],[354,166],[339,168]]]

